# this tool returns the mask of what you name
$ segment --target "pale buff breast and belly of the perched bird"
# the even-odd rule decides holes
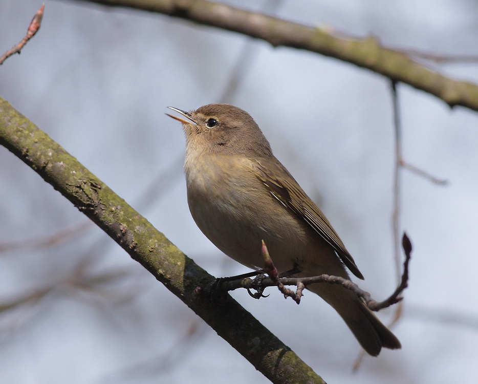
[[[310,261],[320,251],[317,248],[325,246],[320,241],[306,245],[311,242],[308,226],[269,193],[247,159],[215,156],[197,165],[188,168],[186,162],[191,215],[205,236],[232,259],[262,268],[264,240],[277,269],[285,271]],[[312,240],[316,243],[315,236]]]

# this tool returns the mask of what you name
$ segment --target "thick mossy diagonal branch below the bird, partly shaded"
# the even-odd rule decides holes
[[[222,306],[211,302],[199,287],[211,284],[213,276],[1,98],[0,144],[93,220],[272,382],[324,382],[230,296]]]

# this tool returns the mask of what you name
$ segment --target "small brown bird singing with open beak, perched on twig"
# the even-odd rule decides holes
[[[262,240],[280,272],[323,273],[363,279],[332,225],[272,154],[269,142],[246,112],[208,104],[185,112],[187,200],[191,215],[216,247],[241,264],[261,269]],[[344,319],[372,356],[400,342],[352,291],[321,283],[307,287]]]

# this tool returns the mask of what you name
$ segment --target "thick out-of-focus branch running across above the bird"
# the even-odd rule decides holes
[[[79,0],[76,0],[79,1]],[[374,37],[343,38],[315,27],[206,0],[81,0],[116,7],[164,13],[192,22],[242,33],[274,47],[303,49],[335,57],[409,84],[445,101],[478,111],[478,86],[443,76],[401,51],[384,48]]]

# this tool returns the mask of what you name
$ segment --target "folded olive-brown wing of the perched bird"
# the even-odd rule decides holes
[[[309,224],[334,248],[347,268],[359,279],[363,279],[363,275],[358,270],[357,265],[355,265],[354,259],[349,251],[345,249],[329,220],[325,218],[317,205],[306,195],[287,169],[278,161],[269,159],[258,159],[254,161],[253,165],[257,170],[257,178],[266,186],[270,194],[286,208],[295,212],[300,219]],[[277,174],[284,175],[284,171],[288,176],[287,178],[278,180],[272,176]]]

